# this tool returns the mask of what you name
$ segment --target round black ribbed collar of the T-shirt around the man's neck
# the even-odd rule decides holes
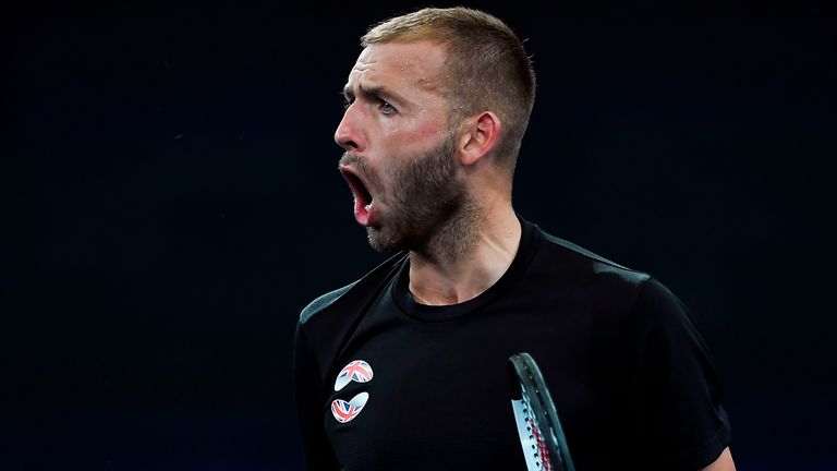
[[[488,304],[520,278],[520,275],[529,267],[532,256],[535,254],[538,228],[520,216],[518,216],[518,219],[520,220],[521,234],[520,245],[514,254],[514,259],[511,261],[511,265],[506,269],[506,273],[480,295],[449,305],[427,305],[416,302],[410,292],[410,257],[407,257],[399,268],[393,282],[390,283],[390,292],[396,305],[408,317],[416,321],[445,322],[460,318]]]

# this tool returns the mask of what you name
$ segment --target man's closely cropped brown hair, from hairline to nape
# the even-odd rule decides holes
[[[428,8],[373,26],[361,46],[427,40],[445,47],[452,119],[494,111],[504,124],[497,162],[514,169],[535,100],[535,72],[518,36],[488,13]]]

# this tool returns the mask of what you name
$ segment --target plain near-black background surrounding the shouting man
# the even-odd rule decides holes
[[[470,4],[538,73],[518,212],[686,301],[739,469],[836,469],[834,19]],[[384,257],[338,93],[412,7],[7,17],[0,469],[301,468],[298,313]]]

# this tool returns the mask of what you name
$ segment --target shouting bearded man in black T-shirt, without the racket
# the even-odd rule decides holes
[[[512,209],[535,88],[515,35],[425,9],[362,46],[339,169],[372,246],[401,252],[301,315],[308,468],[525,469],[506,361],[526,351],[579,470],[735,469],[719,381],[678,299]]]

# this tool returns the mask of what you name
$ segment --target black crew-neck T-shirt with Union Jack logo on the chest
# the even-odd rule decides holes
[[[311,469],[525,470],[506,369],[523,351],[577,469],[696,470],[718,457],[730,439],[720,382],[682,303],[646,274],[522,227],[509,269],[470,301],[416,303],[400,257],[303,312],[294,369]]]

